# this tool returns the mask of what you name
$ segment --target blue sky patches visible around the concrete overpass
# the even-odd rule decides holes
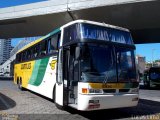
[[[46,1],[46,0],[0,0],[0,8],[23,5],[40,1]],[[13,39],[12,45],[15,46],[22,39],[23,38]],[[151,62],[152,59],[153,60],[160,59],[160,43],[136,45],[136,54],[145,56],[147,62]]]

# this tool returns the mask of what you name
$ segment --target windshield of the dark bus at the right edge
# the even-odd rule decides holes
[[[160,68],[150,69],[150,79],[152,80],[160,79]]]

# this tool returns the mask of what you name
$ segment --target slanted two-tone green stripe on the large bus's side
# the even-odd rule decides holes
[[[42,83],[45,71],[47,69],[48,61],[49,58],[44,58],[35,62],[29,84],[39,86]]]

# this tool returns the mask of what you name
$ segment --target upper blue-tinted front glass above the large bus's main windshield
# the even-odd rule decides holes
[[[86,23],[81,24],[81,37],[82,39],[133,44],[131,35],[127,31]]]

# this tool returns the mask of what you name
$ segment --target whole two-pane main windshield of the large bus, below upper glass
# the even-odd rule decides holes
[[[132,51],[117,48],[115,56],[111,45],[85,45],[82,48],[81,73],[82,81],[85,82],[135,81]]]

